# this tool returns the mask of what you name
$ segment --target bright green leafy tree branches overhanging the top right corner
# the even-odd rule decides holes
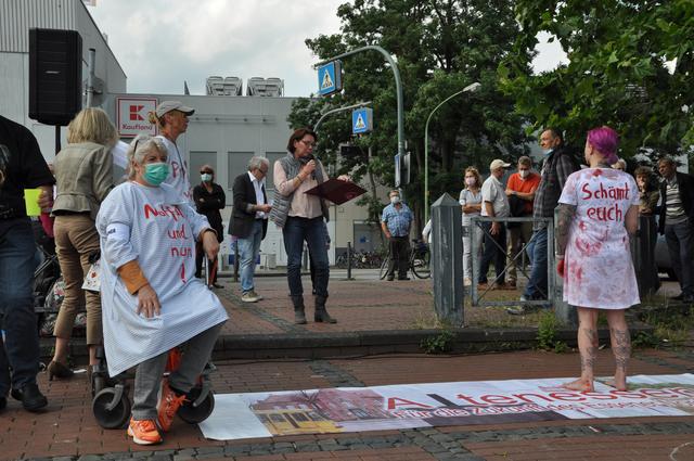
[[[686,152],[694,141],[691,0],[518,0],[522,33],[499,74],[528,131],[556,126],[582,148],[586,131],[614,127],[624,157],[644,150]],[[569,64],[528,72],[528,51],[551,34]]]

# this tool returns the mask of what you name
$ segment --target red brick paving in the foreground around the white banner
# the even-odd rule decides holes
[[[578,355],[515,351],[461,356],[391,355],[331,360],[227,360],[216,363],[217,393],[372,386],[423,382],[571,376]],[[608,374],[609,350],[597,373]],[[638,350],[633,374],[681,373],[690,351]],[[177,420],[164,444],[140,447],[124,430],[95,423],[85,374],[48,382],[50,406],[33,414],[15,401],[0,413],[0,459],[37,460],[691,460],[694,418],[628,418],[441,426],[364,433],[297,435],[232,441],[206,440]],[[670,454],[674,452],[673,458]]]

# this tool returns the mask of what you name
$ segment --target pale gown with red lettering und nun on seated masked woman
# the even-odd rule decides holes
[[[101,238],[104,349],[114,376],[228,319],[219,298],[195,278],[195,236],[209,223],[168,184],[125,182],[97,217]],[[117,268],[137,259],[162,312],[138,315]]]

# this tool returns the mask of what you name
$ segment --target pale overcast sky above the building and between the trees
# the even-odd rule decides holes
[[[346,0],[97,0],[89,12],[128,76],[130,93],[205,93],[210,75],[280,77],[287,97],[317,91],[304,40],[339,31]],[[544,44],[538,71],[562,59]]]

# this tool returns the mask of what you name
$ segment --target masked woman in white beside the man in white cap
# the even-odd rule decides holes
[[[474,166],[465,168],[465,188],[460,191],[460,205],[463,210],[463,277],[465,285],[471,285],[473,271],[472,241],[475,241],[475,257],[481,258],[483,232],[473,228],[470,218],[481,213],[481,177]],[[476,283],[476,281],[475,281]]]

